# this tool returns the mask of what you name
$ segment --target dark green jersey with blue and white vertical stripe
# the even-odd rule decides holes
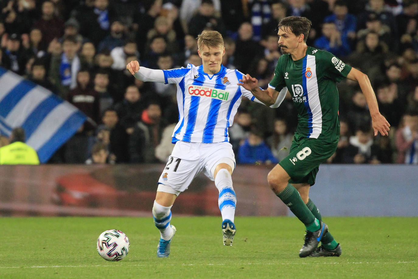
[[[276,91],[287,87],[298,111],[296,133],[329,142],[338,140],[338,90],[336,82],[347,77],[351,66],[333,54],[308,46],[302,59],[280,56],[268,86]]]

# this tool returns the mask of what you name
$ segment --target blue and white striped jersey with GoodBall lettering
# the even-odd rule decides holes
[[[179,119],[173,143],[229,141],[228,128],[234,121],[241,96],[260,102],[250,91],[237,85],[243,74],[223,65],[213,76],[205,74],[203,66],[192,64],[163,72],[166,83],[177,84]]]

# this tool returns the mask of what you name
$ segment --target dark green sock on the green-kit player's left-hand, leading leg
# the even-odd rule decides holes
[[[282,200],[285,205],[289,207],[296,217],[306,226],[307,230],[316,231],[319,230],[319,222],[315,219],[311,210],[308,209],[303,202],[298,190],[291,184],[288,184],[283,191],[276,194]],[[316,221],[316,222],[315,222]]]

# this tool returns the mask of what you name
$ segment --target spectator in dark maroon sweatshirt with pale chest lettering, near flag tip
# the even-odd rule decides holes
[[[90,72],[87,69],[80,69],[77,73],[77,87],[69,91],[67,100],[97,125],[100,120],[99,96],[98,92],[89,85]],[[91,130],[93,126],[88,125],[86,128]]]

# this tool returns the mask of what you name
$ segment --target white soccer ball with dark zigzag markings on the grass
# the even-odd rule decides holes
[[[97,238],[97,252],[106,261],[120,261],[129,251],[129,239],[120,230],[105,230]]]

